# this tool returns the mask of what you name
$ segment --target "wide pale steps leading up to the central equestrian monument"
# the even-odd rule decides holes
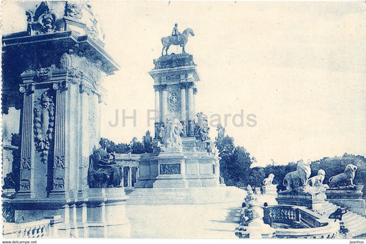
[[[126,204],[216,204],[241,202],[245,191],[234,186],[190,188],[126,188]]]

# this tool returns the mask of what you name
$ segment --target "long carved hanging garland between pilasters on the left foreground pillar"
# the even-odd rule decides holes
[[[45,91],[41,98],[34,101],[34,141],[43,163],[47,162],[49,145],[53,140],[54,112],[54,97]]]

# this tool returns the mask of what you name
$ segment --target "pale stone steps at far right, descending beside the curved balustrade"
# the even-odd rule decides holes
[[[325,201],[323,206],[325,208],[326,217],[328,217],[337,208],[340,208],[340,206],[327,201]],[[350,232],[347,233],[347,236],[357,237],[366,233],[366,218],[356,214],[356,212],[348,210],[348,212],[343,215],[342,221],[345,225],[345,228],[350,230]]]

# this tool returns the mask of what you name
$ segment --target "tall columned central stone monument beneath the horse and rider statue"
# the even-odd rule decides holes
[[[188,28],[188,33],[193,36],[192,29]],[[208,136],[209,127],[201,114],[195,113],[196,82],[200,79],[193,56],[184,51],[172,53],[154,64],[149,72],[155,89],[154,152],[139,161],[135,187],[219,186],[218,156]]]

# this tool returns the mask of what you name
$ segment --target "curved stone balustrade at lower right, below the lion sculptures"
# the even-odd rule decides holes
[[[264,207],[264,223],[276,223],[290,228],[275,228],[275,236],[282,238],[333,238],[339,223],[327,219],[303,206],[277,205]]]

